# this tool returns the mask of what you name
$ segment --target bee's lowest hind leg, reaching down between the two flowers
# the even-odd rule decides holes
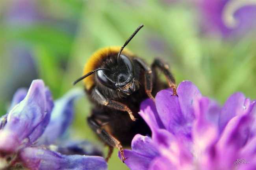
[[[113,147],[116,147],[120,151],[121,159],[122,159],[122,162],[124,163],[126,158],[124,157],[124,150],[123,150],[121,143],[117,139],[115,139],[115,137],[113,137],[111,134],[109,134],[104,128],[102,128],[102,126],[100,126],[100,124],[96,121],[96,119],[94,117],[88,117],[87,122],[88,122],[90,128],[95,133],[97,133],[98,136],[104,142],[106,142],[106,144],[109,145],[109,152],[108,152],[108,156],[106,157],[106,161],[108,161],[108,159],[111,157],[111,155],[113,153]]]

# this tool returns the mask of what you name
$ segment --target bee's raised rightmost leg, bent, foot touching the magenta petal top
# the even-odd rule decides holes
[[[169,84],[169,87],[173,89],[173,95],[177,95],[177,87],[175,83],[175,79],[173,77],[173,74],[169,70],[168,64],[160,60],[159,58],[156,58],[152,64],[152,69],[159,68],[163,74],[165,75],[167,82]]]

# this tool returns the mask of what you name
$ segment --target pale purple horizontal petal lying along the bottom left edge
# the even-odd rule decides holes
[[[19,159],[30,170],[106,170],[103,157],[85,155],[62,155],[58,152],[36,147],[24,148]]]

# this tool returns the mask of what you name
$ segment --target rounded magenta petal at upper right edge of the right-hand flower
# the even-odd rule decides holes
[[[220,132],[222,132],[222,130],[224,129],[224,127],[226,126],[230,119],[244,112],[244,110],[246,109],[244,103],[245,96],[243,95],[243,93],[237,92],[228,98],[223,108],[221,109],[219,117]]]

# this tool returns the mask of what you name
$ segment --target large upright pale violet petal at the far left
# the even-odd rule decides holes
[[[50,94],[46,93],[43,81],[33,80],[25,99],[9,112],[6,125],[0,130],[0,151],[13,152],[43,133],[45,127],[40,124],[46,126],[52,106]]]

